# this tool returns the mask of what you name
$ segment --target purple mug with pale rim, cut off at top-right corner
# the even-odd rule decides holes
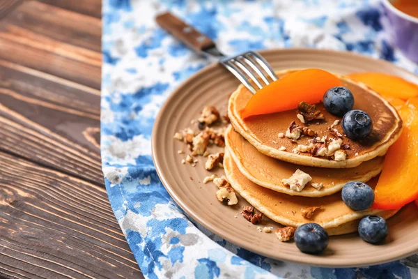
[[[405,56],[418,63],[418,18],[401,12],[392,6],[391,2],[382,0],[382,6],[394,44]]]

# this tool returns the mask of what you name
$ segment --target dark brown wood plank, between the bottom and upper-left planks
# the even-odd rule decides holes
[[[100,92],[0,60],[0,150],[98,185]]]

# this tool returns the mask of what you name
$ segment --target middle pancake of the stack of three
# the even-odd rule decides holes
[[[293,165],[258,152],[244,137],[236,133],[232,126],[226,129],[225,143],[231,158],[247,179],[280,193],[304,197],[324,197],[338,192],[349,181],[369,181],[373,176],[380,174],[384,160],[383,157],[377,157],[348,169]],[[297,192],[284,186],[281,180],[288,179],[296,169],[309,174],[312,183],[323,183],[323,187],[317,190],[309,183],[302,191]]]

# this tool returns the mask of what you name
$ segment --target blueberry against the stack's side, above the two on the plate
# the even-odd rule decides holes
[[[351,181],[341,191],[344,204],[355,211],[366,210],[374,202],[373,189],[366,183]]]

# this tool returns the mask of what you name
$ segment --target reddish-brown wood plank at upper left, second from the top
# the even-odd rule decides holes
[[[27,1],[0,20],[0,59],[100,89],[100,35],[95,17]]]

